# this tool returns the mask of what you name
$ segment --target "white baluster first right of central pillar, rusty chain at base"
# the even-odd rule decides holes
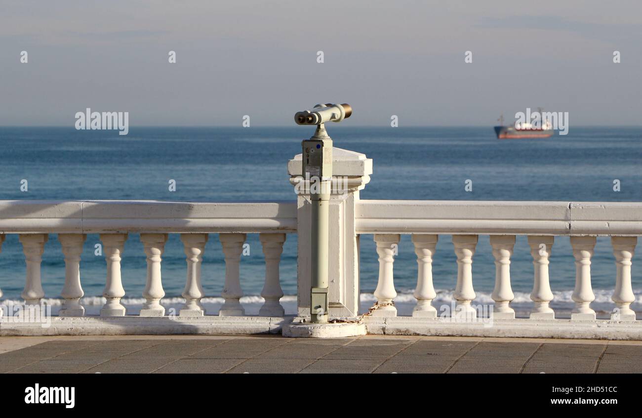
[[[372,312],[375,317],[396,317],[397,308],[392,303],[397,297],[393,279],[392,263],[395,261],[395,254],[401,236],[399,234],[374,234],[374,241],[377,243],[377,254],[379,255],[379,282],[374,290],[374,297],[377,304],[385,305]]]

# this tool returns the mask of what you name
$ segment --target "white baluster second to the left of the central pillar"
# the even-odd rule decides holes
[[[225,303],[218,312],[221,317],[240,317],[245,315],[245,309],[239,302],[239,299],[243,296],[239,269],[241,267],[241,253],[243,252],[245,238],[245,234],[218,234],[218,239],[223,245],[223,254],[225,254],[225,287],[223,287],[223,292],[221,293]]]

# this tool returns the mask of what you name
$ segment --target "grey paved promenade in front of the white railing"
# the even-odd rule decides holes
[[[0,337],[1,373],[642,372],[642,342],[363,336]]]

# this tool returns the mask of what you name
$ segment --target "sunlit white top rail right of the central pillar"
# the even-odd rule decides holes
[[[640,202],[360,200],[358,234],[642,235]]]

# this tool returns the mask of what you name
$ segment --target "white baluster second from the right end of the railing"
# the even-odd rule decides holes
[[[594,236],[571,236],[571,247],[575,257],[575,290],[571,299],[575,309],[571,312],[573,320],[595,320],[595,311],[591,302],[595,300],[591,288],[591,257],[595,248]]]

